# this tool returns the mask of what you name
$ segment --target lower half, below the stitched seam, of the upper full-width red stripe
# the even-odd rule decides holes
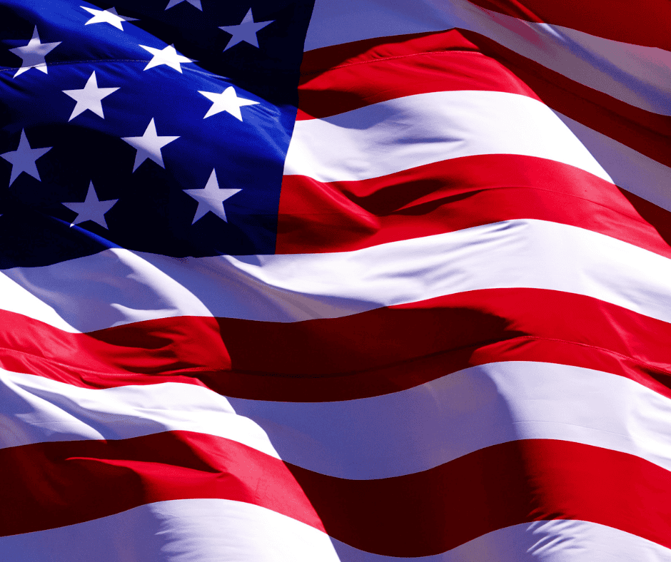
[[[171,375],[100,373],[16,352],[0,354],[0,366],[5,369],[37,374],[84,388],[178,382],[196,384],[230,397],[284,402],[330,402],[380,396],[416,387],[460,369],[505,361],[548,362],[595,369],[627,377],[671,398],[671,377],[664,369],[587,344],[524,336],[451,349],[365,372],[329,377],[288,377],[208,369]]]

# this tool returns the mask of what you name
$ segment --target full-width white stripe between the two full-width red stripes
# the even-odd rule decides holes
[[[560,439],[671,470],[670,400],[630,379],[567,365],[492,363],[345,402],[231,398],[235,412],[226,398],[193,385],[92,390],[6,371],[0,384],[0,449],[196,431],[364,480],[425,471],[515,439]]]

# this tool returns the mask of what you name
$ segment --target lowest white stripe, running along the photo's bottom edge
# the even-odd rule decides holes
[[[420,559],[383,556],[275,511],[221,499],[161,501],[94,521],[0,537],[0,556],[12,562],[117,562],[121,545],[128,558],[143,562],[662,562],[671,556],[645,538],[565,520],[505,527]]]

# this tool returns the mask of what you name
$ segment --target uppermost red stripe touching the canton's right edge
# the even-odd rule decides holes
[[[340,60],[345,55],[349,58]],[[337,61],[331,70],[325,66]],[[324,118],[434,91],[518,93],[671,165],[671,117],[583,86],[471,31],[356,41],[347,51],[342,46],[321,48],[306,54],[301,72],[298,119]]]

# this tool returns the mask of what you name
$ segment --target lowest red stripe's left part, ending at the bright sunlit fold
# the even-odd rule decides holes
[[[323,530],[280,460],[192,431],[0,450],[0,535],[109,516],[156,501],[217,498],[272,509]]]

